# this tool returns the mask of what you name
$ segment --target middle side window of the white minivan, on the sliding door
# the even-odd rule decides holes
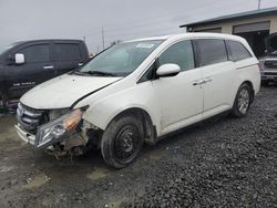
[[[227,61],[224,40],[194,40],[195,54],[198,66]]]

